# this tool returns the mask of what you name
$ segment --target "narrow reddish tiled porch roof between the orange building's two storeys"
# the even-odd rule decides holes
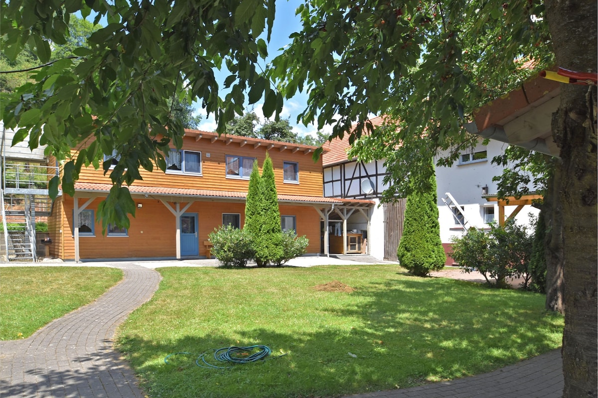
[[[107,193],[109,192],[111,184],[96,184],[96,183],[75,183],[75,190]],[[188,189],[188,188],[166,188],[166,187],[144,187],[144,186],[129,186],[129,192],[132,194],[148,194],[161,196],[190,196],[199,198],[221,198],[221,199],[245,199],[246,192],[232,192],[232,191],[213,191],[206,189]],[[371,204],[372,200],[361,199],[338,199],[338,198],[324,198],[321,196],[300,196],[300,195],[278,195],[280,202],[303,202],[303,203],[337,203],[339,205],[350,204]]]

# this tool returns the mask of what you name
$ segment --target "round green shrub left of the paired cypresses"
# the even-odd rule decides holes
[[[245,267],[255,255],[251,236],[245,229],[221,226],[208,237],[213,245],[212,254],[225,267]]]

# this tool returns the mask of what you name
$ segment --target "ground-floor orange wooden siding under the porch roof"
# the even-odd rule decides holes
[[[79,199],[79,203],[81,204],[84,200],[87,199]],[[103,198],[95,199],[86,208],[93,210],[94,216],[100,200]],[[130,218],[128,236],[104,236],[101,224],[95,223],[94,236],[80,236],[79,238],[80,257],[82,259],[176,257],[175,216],[160,200],[141,199],[136,200],[136,203],[140,203],[142,207],[137,209],[135,218]],[[53,213],[53,217],[56,218],[53,219],[52,224],[58,223],[62,219],[62,233],[58,233],[56,228],[53,229],[51,237],[56,244],[51,245],[54,246],[51,248],[51,254],[65,260],[74,259],[75,239],[72,235],[74,199],[64,196],[60,207],[63,207],[63,210],[56,212],[55,216]],[[203,241],[208,240],[208,234],[222,224],[223,213],[239,213],[241,226],[245,223],[244,202],[197,201],[185,212],[198,215],[199,257],[206,255]],[[59,214],[62,214],[62,217]],[[309,239],[307,252],[312,254],[320,252],[320,220],[318,212],[312,206],[282,205],[280,214],[295,215],[297,234],[305,235]]]

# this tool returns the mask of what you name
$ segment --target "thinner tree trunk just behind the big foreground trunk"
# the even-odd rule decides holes
[[[563,210],[560,204],[561,165],[553,168],[544,196],[542,213],[546,223],[544,240],[546,261],[546,309],[565,313],[563,279]]]

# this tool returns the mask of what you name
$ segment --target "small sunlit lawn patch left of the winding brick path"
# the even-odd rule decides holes
[[[0,340],[29,337],[122,278],[114,268],[0,267]]]

